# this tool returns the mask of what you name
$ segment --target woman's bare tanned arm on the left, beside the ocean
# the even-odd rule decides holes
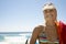
[[[43,28],[44,28],[43,25],[38,25],[34,29],[30,44],[35,44],[36,38],[37,38],[38,34],[41,33],[41,31],[43,30]]]

